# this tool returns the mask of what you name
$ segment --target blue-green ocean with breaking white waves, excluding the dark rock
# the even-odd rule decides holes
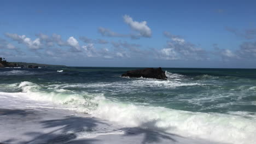
[[[121,77],[134,69],[140,68],[2,68],[0,95],[126,127],[221,143],[256,141],[256,69],[162,68],[167,80]]]

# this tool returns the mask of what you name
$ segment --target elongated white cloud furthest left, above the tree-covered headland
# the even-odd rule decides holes
[[[38,50],[41,48],[40,39],[37,38],[35,40],[31,40],[31,38],[26,37],[26,35],[18,35],[18,34],[12,34],[12,33],[5,33],[5,36],[8,38],[11,38],[15,41],[18,41],[18,43],[25,44],[29,49],[32,50]]]

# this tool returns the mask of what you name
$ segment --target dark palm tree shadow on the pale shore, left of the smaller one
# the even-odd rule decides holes
[[[97,118],[75,116],[67,116],[64,119],[52,119],[48,121],[42,121],[40,123],[43,124],[43,128],[54,128],[54,130],[46,134],[38,132],[26,133],[26,135],[33,136],[34,139],[24,143],[66,143],[77,138],[75,133],[90,132],[94,130],[94,127],[97,127],[98,124],[107,124],[98,121]],[[96,140],[84,140],[84,142],[85,141],[86,143],[91,143]]]

